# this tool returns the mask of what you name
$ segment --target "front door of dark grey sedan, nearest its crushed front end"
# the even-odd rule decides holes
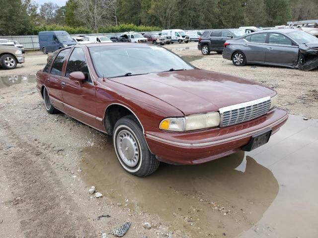
[[[269,33],[265,62],[295,66],[298,61],[299,47],[287,36]]]

